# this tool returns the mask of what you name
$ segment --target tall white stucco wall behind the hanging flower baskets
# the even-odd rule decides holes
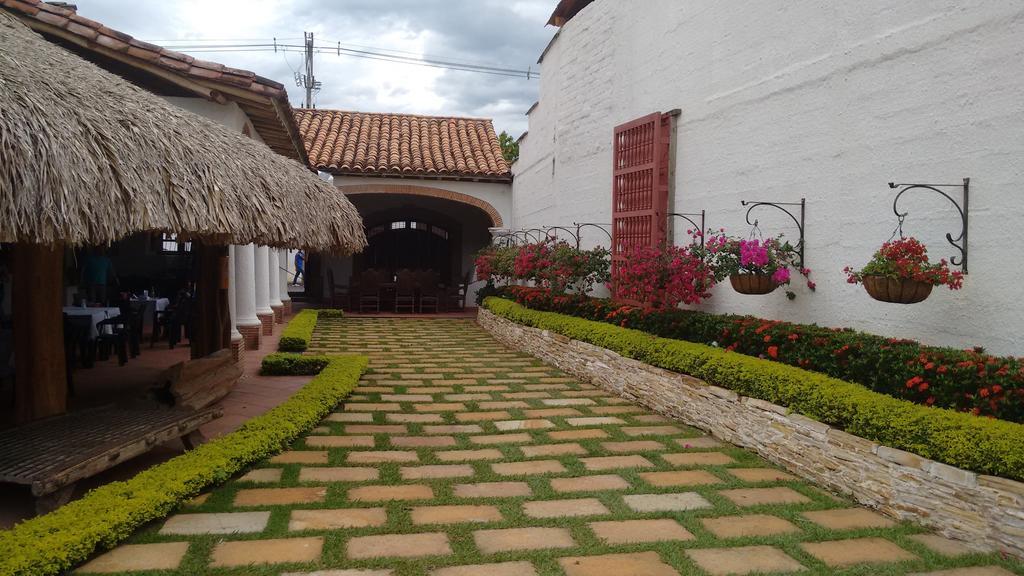
[[[610,221],[615,125],[681,109],[675,210],[746,235],[740,200],[807,198],[802,286],[703,307],[1022,354],[1024,4],[986,1],[597,0],[543,61],[540,106],[513,167],[514,225]],[[890,180],[971,177],[970,275],[914,305],[846,284],[896,224]],[[904,198],[905,230],[953,254],[952,205]],[[958,192],[952,195],[958,198]],[[766,235],[792,222],[758,212]],[[677,242],[685,225],[676,225]],[[591,242],[600,236],[590,236]],[[605,241],[606,242],[606,241]]]

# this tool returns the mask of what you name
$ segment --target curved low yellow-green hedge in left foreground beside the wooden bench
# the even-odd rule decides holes
[[[330,357],[324,371],[302,389],[238,430],[0,532],[0,574],[66,571],[167,516],[201,490],[287,448],[355,387],[367,364],[366,357]]]

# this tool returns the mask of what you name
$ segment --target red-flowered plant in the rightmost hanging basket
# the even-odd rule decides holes
[[[865,276],[881,276],[946,286],[950,290],[959,290],[964,286],[964,273],[950,271],[945,259],[938,263],[929,261],[928,248],[914,238],[886,242],[864,268],[855,271],[847,266],[843,272],[850,284],[863,282]]]

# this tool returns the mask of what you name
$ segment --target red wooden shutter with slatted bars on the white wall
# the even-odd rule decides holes
[[[611,266],[630,249],[668,238],[672,117],[655,112],[615,127],[611,182]]]

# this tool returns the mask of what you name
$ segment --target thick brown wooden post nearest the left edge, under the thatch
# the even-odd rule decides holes
[[[17,422],[68,409],[63,346],[63,247],[15,244],[14,404]]]

